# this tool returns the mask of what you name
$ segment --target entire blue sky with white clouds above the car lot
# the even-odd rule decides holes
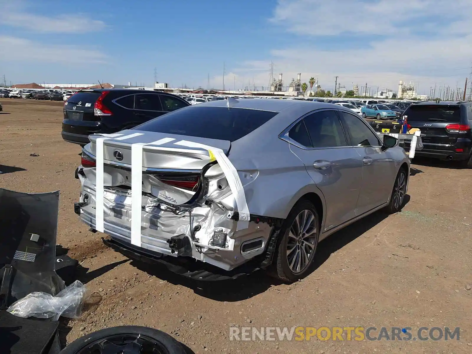
[[[0,75],[13,83],[267,86],[319,79],[396,91],[464,85],[472,2],[434,0],[0,0]],[[464,14],[464,15],[462,15]]]

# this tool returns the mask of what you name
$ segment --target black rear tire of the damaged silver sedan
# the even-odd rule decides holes
[[[291,231],[294,231],[292,230],[292,226],[295,222],[295,219],[303,211],[311,212],[312,216],[314,217],[314,220],[312,223],[310,223],[311,226],[309,229],[307,229],[307,231],[316,230],[316,235],[310,237],[311,239],[310,241],[308,240],[308,237],[305,239],[300,235],[302,233],[299,233],[298,235],[295,235],[297,236],[297,241],[293,242],[295,237],[289,236],[289,234],[292,234],[292,235],[296,234],[296,230],[295,232],[291,232]],[[313,262],[314,255],[316,253],[316,248],[318,246],[318,240],[320,237],[320,222],[319,221],[320,219],[318,217],[318,211],[316,210],[312,202],[309,202],[307,200],[302,200],[295,204],[295,206],[292,208],[292,210],[288,214],[287,219],[285,219],[282,227],[280,228],[279,237],[278,237],[278,245],[277,245],[277,250],[275,253],[275,259],[274,259],[274,264],[273,264],[273,268],[274,268],[273,275],[276,278],[282,280],[283,282],[291,283],[301,278],[304,278],[308,275],[308,273],[311,271],[310,265]],[[305,233],[303,233],[302,235],[305,235]],[[291,241],[289,241],[289,238]],[[307,251],[309,250],[312,251],[308,257],[308,261],[306,261],[306,258],[304,258],[304,262],[306,262],[306,264],[304,265],[303,269],[300,269],[300,271],[297,271],[297,272],[291,269],[291,266],[289,265],[289,261],[287,258],[287,247],[289,246],[289,242],[291,244],[294,244],[294,247],[292,248],[292,252],[295,252],[295,255],[294,255],[295,264],[297,264],[295,260],[297,253],[299,253],[298,264],[300,264],[303,262],[302,253],[306,254]]]

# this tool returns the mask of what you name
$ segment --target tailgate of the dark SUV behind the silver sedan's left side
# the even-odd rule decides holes
[[[64,123],[74,125],[82,121],[100,120],[93,113],[93,106],[100,95],[100,92],[81,91],[70,96],[64,103]]]

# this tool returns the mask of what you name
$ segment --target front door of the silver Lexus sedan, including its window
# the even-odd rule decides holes
[[[357,215],[370,211],[388,201],[395,177],[395,160],[362,119],[345,111],[339,111],[351,145],[362,160],[362,186],[357,202]],[[391,182],[391,183],[389,183]]]

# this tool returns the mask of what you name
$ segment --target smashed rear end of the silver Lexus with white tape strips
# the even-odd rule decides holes
[[[264,256],[273,222],[249,214],[229,140],[127,130],[90,141],[76,212],[112,242],[226,271]]]

